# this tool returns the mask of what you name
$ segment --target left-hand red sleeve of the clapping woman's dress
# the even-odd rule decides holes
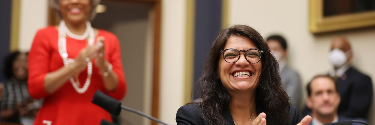
[[[51,46],[43,30],[36,33],[28,53],[28,92],[35,99],[49,95],[44,88],[44,77],[50,65]]]

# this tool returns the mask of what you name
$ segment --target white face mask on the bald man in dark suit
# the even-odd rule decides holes
[[[349,50],[350,51],[350,50]],[[349,52],[347,51],[347,53]],[[342,50],[335,48],[329,54],[329,61],[335,68],[344,65],[348,60],[348,56]]]

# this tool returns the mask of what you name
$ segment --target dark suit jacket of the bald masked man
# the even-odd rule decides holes
[[[350,67],[336,83],[341,96],[338,114],[366,119],[372,102],[371,78]]]

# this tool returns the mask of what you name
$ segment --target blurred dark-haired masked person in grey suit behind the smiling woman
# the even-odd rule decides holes
[[[291,104],[299,107],[302,95],[301,80],[300,75],[287,64],[287,41],[280,35],[272,35],[267,38],[267,44],[278,60],[281,84],[290,97]]]

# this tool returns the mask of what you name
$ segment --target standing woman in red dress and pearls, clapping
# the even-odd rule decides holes
[[[90,20],[100,0],[50,0],[58,26],[37,31],[28,57],[28,91],[43,98],[34,124],[99,125],[110,113],[91,102],[96,90],[121,100],[126,83],[120,42]]]

